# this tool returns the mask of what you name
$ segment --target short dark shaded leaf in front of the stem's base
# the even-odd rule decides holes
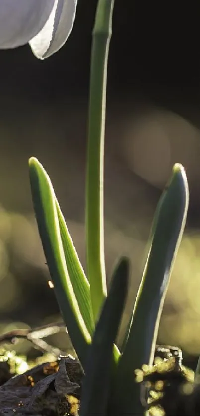
[[[89,347],[81,394],[80,416],[107,415],[115,342],[128,289],[129,262],[122,258]]]

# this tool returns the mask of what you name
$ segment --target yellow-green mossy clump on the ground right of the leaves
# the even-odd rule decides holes
[[[145,415],[200,415],[200,384],[194,383],[194,371],[182,359],[180,348],[157,346],[153,365],[144,364],[135,371]]]

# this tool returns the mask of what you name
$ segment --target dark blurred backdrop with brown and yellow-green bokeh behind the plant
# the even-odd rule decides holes
[[[0,51],[0,334],[60,320],[31,200],[28,159],[49,173],[85,269],[84,190],[92,27],[97,0],[79,0],[72,34],[51,58]],[[185,7],[185,8],[184,8]],[[105,252],[132,263],[119,343],[133,308],[153,213],[175,162],[190,208],[165,301],[159,343],[200,354],[200,59],[196,2],[116,0],[105,140]],[[60,333],[49,342],[65,349]],[[20,353],[34,355],[28,342]]]

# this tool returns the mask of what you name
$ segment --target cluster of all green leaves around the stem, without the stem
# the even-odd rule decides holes
[[[111,346],[115,342],[126,297],[126,261],[123,260],[114,273],[113,285],[95,332],[89,333],[87,328],[91,331],[92,316],[89,284],[47,173],[35,158],[30,159],[29,165],[36,219],[55,293],[73,346],[86,372],[82,414],[84,409],[88,409],[88,415],[98,414],[94,413],[94,408],[95,403],[99,403],[101,386],[105,394],[102,415],[118,415],[119,411],[122,415],[142,415],[140,386],[135,382],[134,371],[144,363],[151,365],[154,356],[162,306],[188,209],[189,194],[184,169],[179,164],[174,166],[169,185],[156,209],[150,249],[124,339],[123,354],[120,355],[115,345],[113,354]],[[103,361],[105,364],[102,366]],[[100,373],[101,368],[104,368],[103,374]],[[113,372],[111,378],[110,368]],[[99,376],[95,377],[98,372]],[[104,394],[101,392],[102,397]]]

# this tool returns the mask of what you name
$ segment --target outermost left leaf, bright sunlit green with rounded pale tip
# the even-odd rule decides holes
[[[57,214],[58,204],[49,176],[34,157],[29,159],[29,174],[36,220],[55,294],[73,347],[84,368],[91,336],[74,293],[72,276],[68,273]]]

